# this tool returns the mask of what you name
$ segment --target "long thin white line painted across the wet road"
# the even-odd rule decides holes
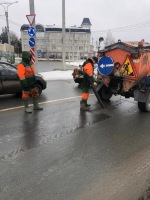
[[[90,96],[93,96],[93,95],[94,94],[90,94]],[[40,102],[39,104],[48,104],[48,103],[54,103],[54,102],[65,101],[65,100],[70,100],[70,99],[77,99],[77,98],[81,98],[81,96],[67,97],[67,98],[64,98],[64,99],[56,99],[56,100],[51,100],[51,101],[44,101],[44,102]],[[32,106],[32,104],[29,104],[29,106]],[[0,110],[0,112],[6,112],[6,111],[16,110],[16,109],[20,109],[20,108],[24,108],[24,106],[17,106],[17,107],[12,107],[12,108],[6,108],[6,109]]]

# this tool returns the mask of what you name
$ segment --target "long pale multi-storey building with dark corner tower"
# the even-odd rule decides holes
[[[65,28],[65,52],[70,60],[92,56],[91,22],[84,18],[80,27]],[[29,24],[21,26],[22,50],[29,51]],[[62,28],[36,24],[36,44],[39,57],[62,58]]]

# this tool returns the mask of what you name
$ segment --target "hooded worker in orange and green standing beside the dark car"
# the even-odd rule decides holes
[[[22,52],[22,60],[18,64],[18,76],[20,79],[20,84],[22,87],[22,99],[24,102],[24,111],[26,113],[32,113],[29,108],[29,97],[33,98],[33,109],[43,110],[38,104],[39,93],[35,88],[35,70],[34,66],[31,64],[32,55],[28,51]]]

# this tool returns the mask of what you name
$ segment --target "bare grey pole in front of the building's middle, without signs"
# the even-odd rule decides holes
[[[62,63],[63,70],[66,69],[65,64],[65,0],[62,0]]]

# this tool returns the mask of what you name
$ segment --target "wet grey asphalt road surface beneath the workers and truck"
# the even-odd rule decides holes
[[[120,96],[102,109],[93,95],[80,112],[80,94],[72,80],[48,81],[32,114],[0,97],[1,200],[137,200],[148,188],[149,113]]]

